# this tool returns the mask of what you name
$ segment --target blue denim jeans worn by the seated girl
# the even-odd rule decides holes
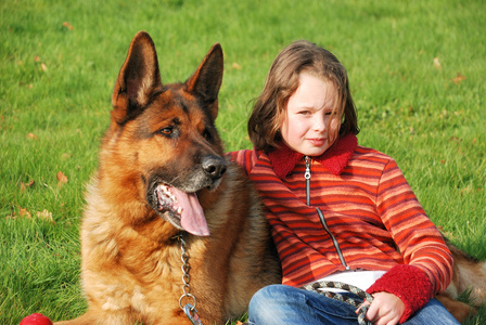
[[[356,299],[354,294],[344,294]],[[362,300],[362,299],[360,299]],[[356,307],[314,291],[285,285],[258,290],[250,302],[248,324],[338,324],[357,325]],[[406,325],[460,325],[437,300],[432,299],[410,316]]]

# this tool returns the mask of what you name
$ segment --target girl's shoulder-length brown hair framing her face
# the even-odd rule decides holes
[[[308,73],[334,86],[337,99],[333,113],[341,119],[338,138],[359,133],[355,103],[349,91],[346,68],[331,52],[315,43],[299,40],[280,52],[267,75],[261,94],[256,99],[248,120],[250,140],[256,150],[270,152],[279,147],[289,98],[298,88],[298,76]]]

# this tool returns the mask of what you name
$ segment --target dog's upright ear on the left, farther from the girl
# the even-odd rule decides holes
[[[139,31],[131,41],[112,96],[112,118],[125,123],[149,103],[151,94],[162,87],[157,53],[152,38]]]

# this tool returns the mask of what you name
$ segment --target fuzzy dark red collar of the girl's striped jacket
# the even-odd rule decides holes
[[[311,158],[319,161],[333,174],[338,176],[343,172],[344,168],[346,168],[357,145],[358,139],[355,134],[349,133],[344,138],[341,138],[322,155]],[[294,169],[295,165],[304,157],[304,155],[294,152],[284,143],[281,143],[280,148],[270,152],[268,157],[273,166],[276,174],[283,179]]]

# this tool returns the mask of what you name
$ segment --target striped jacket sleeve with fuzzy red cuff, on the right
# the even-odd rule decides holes
[[[447,288],[452,276],[452,256],[392,158],[378,186],[376,208],[406,265],[393,268],[368,290],[399,297],[407,307],[402,323]]]

